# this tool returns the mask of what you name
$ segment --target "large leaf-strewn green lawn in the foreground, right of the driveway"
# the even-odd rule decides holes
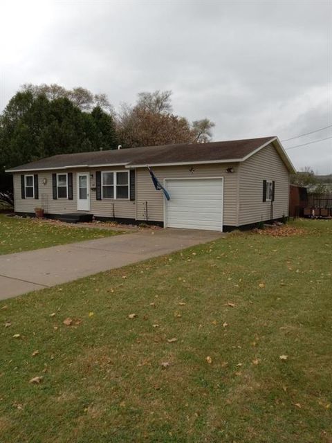
[[[331,442],[332,222],[293,226],[2,302],[0,441]]]

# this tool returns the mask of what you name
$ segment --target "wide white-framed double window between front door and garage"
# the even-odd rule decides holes
[[[129,171],[102,172],[102,199],[129,199]]]

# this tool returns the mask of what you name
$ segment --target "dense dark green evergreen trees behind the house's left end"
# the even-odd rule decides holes
[[[101,107],[81,111],[55,89],[52,100],[50,93],[35,94],[31,89],[16,93],[0,116],[1,185],[6,168],[55,154],[117,147],[113,117]]]

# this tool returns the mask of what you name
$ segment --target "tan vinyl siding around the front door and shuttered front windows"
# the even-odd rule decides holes
[[[125,170],[123,167],[118,168],[98,168],[98,171],[119,171]],[[39,181],[39,199],[21,198],[21,174],[14,174],[14,198],[15,198],[15,211],[17,213],[33,213],[36,206],[44,208],[46,214],[64,214],[75,213],[77,211],[77,176],[76,173],[89,172],[93,174],[90,179],[90,188],[95,188],[95,172],[96,170],[66,170],[65,172],[73,172],[73,200],[68,199],[56,199],[53,200],[52,190],[52,174],[64,173],[64,170],[54,171],[35,171],[29,172],[29,174],[38,174]],[[127,170],[126,170],[127,171]],[[23,173],[22,173],[23,174]],[[43,179],[47,180],[46,185],[42,183]],[[113,217],[113,205],[114,215],[118,218],[135,219],[135,201],[122,200],[122,199],[104,199],[96,200],[95,190],[90,190],[90,213],[96,217]],[[84,213],[86,211],[82,211]]]

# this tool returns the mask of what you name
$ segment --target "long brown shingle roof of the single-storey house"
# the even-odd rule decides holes
[[[250,138],[248,140],[216,141],[212,143],[132,147],[120,150],[60,154],[10,168],[15,170],[39,170],[94,165],[156,165],[196,163],[211,161],[239,161],[275,137]]]

